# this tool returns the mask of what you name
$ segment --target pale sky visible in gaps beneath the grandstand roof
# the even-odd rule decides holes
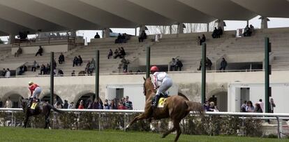
[[[249,24],[252,24],[255,29],[260,29],[261,27],[261,20],[259,20],[260,16],[254,17],[253,19],[249,20]],[[274,17],[269,17],[268,21],[268,27],[269,28],[274,28],[274,27],[289,27],[289,18],[274,18]],[[242,29],[246,27],[246,21],[224,21],[226,24],[226,27],[224,28],[225,31],[228,30],[236,30],[236,29]],[[111,28],[114,33],[126,33],[126,34],[131,34],[135,35],[135,29],[116,29],[116,28]],[[137,29],[137,35],[138,35],[138,30]],[[94,38],[96,32],[102,36],[102,31],[100,30],[80,30],[77,31],[77,35],[79,36],[84,36],[84,39],[89,42],[90,38]],[[32,35],[29,36],[29,38],[33,37]],[[1,40],[7,41],[8,36],[2,36],[0,37]]]

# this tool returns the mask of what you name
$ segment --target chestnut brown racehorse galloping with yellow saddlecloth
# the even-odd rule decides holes
[[[195,111],[200,113],[201,115],[204,113],[204,108],[202,104],[198,102],[189,101],[188,98],[181,93],[178,95],[174,95],[168,97],[165,101],[163,108],[152,108],[151,101],[154,99],[156,95],[156,90],[154,89],[154,85],[151,82],[151,78],[144,78],[144,96],[145,96],[145,106],[144,113],[136,116],[127,126],[126,129],[133,125],[135,121],[148,119],[160,120],[162,118],[170,118],[173,122],[172,129],[165,132],[162,138],[168,136],[171,132],[175,132],[177,130],[177,136],[175,137],[175,141],[179,139],[179,135],[181,135],[181,128],[179,127],[179,122],[183,118],[190,113],[190,111]]]

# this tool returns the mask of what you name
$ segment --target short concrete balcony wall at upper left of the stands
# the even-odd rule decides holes
[[[67,52],[71,49],[71,45],[43,45],[43,52]],[[22,47],[22,54],[36,54],[39,46]],[[17,52],[17,48],[11,48],[11,55]]]

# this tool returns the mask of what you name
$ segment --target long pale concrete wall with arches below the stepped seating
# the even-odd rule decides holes
[[[170,73],[177,85],[179,92],[185,94],[192,101],[201,99],[201,73]],[[101,75],[100,76],[100,97],[107,97],[108,85],[142,85],[144,74],[138,75]],[[33,80],[43,87],[40,97],[50,92],[50,78],[1,78],[0,99],[5,101],[10,92],[28,97],[27,83]],[[62,100],[69,102],[77,101],[82,95],[94,93],[94,76],[64,76],[54,78],[54,94],[59,95]],[[207,99],[220,92],[228,92],[230,83],[264,83],[264,72],[232,72],[232,73],[207,73]],[[289,71],[272,71],[271,83],[289,83]],[[125,95],[125,94],[124,94]],[[132,100],[141,100],[143,94],[133,94]],[[139,103],[139,102],[134,102]]]

